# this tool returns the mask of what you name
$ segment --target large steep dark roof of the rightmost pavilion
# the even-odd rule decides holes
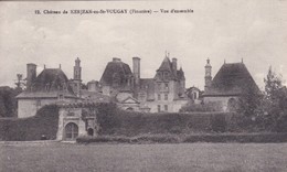
[[[203,96],[238,96],[246,87],[259,92],[243,63],[228,63],[222,65]]]

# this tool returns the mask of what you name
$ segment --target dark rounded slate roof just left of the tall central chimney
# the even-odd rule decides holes
[[[119,79],[119,85],[125,87],[127,84],[127,78],[132,76],[129,65],[120,61],[109,62],[103,73],[100,83],[103,85],[111,86],[113,77],[115,76]]]

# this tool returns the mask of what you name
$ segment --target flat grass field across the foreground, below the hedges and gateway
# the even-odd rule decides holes
[[[0,171],[286,172],[287,143],[0,143]]]

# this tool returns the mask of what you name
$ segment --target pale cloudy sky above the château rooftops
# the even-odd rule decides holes
[[[193,13],[72,14],[71,10],[160,9]],[[73,77],[81,58],[84,83],[99,80],[119,57],[132,68],[141,58],[141,77],[151,78],[169,52],[185,74],[187,87],[204,87],[204,65],[212,75],[226,63],[242,62],[263,89],[269,66],[287,80],[286,0],[0,2],[0,86],[13,86],[28,63],[59,67]],[[40,10],[42,14],[35,14]],[[43,10],[68,14],[43,14]],[[286,84],[286,83],[285,83]]]

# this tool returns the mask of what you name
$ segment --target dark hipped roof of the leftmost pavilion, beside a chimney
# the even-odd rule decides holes
[[[31,88],[17,98],[55,98],[60,93],[65,97],[76,98],[61,68],[45,68],[38,75]]]

